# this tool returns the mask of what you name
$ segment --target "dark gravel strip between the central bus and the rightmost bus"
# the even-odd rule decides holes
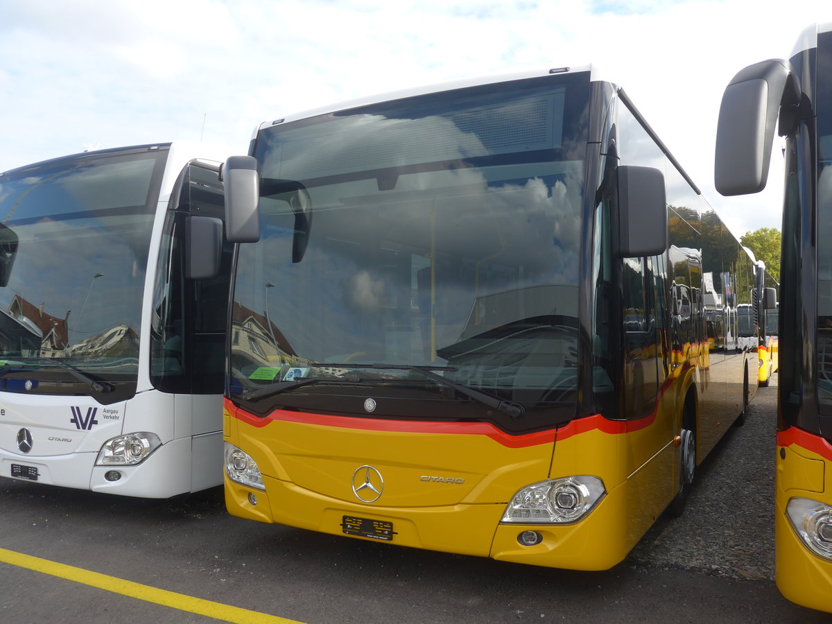
[[[775,374],[697,468],[685,513],[659,518],[626,562],[774,580],[776,399]]]

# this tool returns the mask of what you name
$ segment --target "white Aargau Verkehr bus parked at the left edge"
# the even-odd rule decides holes
[[[230,247],[221,266],[201,256],[223,196],[195,156],[211,154],[174,142],[0,175],[2,477],[155,498],[221,483]]]

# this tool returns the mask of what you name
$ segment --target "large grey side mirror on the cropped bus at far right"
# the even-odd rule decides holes
[[[790,134],[799,102],[797,80],[785,61],[755,63],[728,83],[716,124],[714,182],[721,195],[765,188],[778,116],[780,135]]]

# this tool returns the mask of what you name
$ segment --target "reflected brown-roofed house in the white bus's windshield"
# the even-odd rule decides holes
[[[67,348],[67,316],[59,319],[14,295],[8,310],[0,310],[0,348],[22,356],[55,357]]]

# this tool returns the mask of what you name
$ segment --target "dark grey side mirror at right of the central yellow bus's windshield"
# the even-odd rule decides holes
[[[665,176],[653,167],[620,166],[618,255],[639,258],[667,249]]]

